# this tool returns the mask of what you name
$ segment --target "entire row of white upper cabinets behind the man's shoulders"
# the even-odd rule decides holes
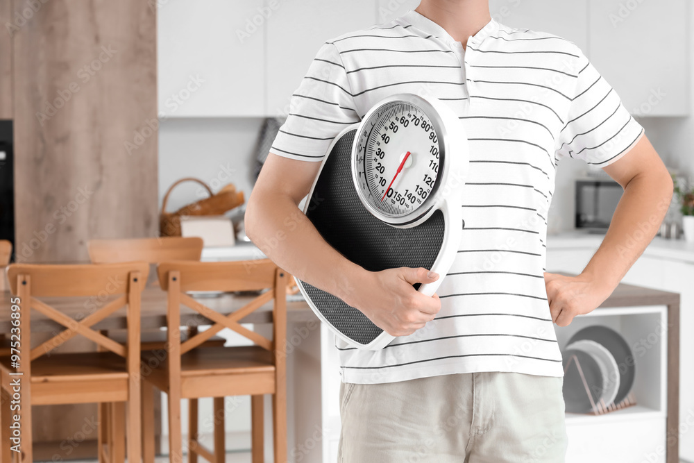
[[[159,108],[172,117],[287,115],[291,94],[325,41],[389,22],[418,4],[162,2]],[[490,11],[507,26],[574,42],[633,114],[688,115],[688,0],[490,0]]]

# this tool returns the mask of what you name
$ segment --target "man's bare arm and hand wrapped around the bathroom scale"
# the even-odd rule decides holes
[[[431,283],[437,274],[406,267],[366,271],[325,242],[299,210],[320,164],[269,154],[248,199],[248,237],[280,267],[361,310],[389,334],[422,328],[441,305],[437,296],[424,296],[412,285]]]

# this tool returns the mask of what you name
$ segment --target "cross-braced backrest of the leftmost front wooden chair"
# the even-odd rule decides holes
[[[99,346],[128,359],[137,371],[139,365],[139,310],[141,292],[149,273],[146,262],[121,264],[11,264],[8,267],[10,290],[19,301],[19,324],[22,326],[22,362],[49,353],[68,339],[81,335]],[[88,297],[86,300],[83,297]],[[71,317],[39,298],[81,297],[76,314]],[[108,299],[111,299],[108,301]],[[57,301],[56,301],[57,302]],[[15,303],[15,301],[13,301]],[[91,327],[119,308],[127,306],[128,342],[123,346]],[[91,311],[84,316],[85,309]],[[31,346],[31,310],[65,327],[65,330],[29,350]]]

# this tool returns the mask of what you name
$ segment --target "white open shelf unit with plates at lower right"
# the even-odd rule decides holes
[[[566,414],[567,463],[666,461],[668,308],[650,305],[597,309],[555,327],[559,347],[591,325],[619,332],[632,348],[637,405],[604,415]],[[620,366],[621,367],[621,366]],[[650,460],[647,459],[650,458]]]

